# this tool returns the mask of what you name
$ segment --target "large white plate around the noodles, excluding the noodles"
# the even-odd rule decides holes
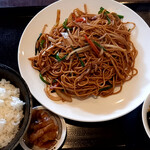
[[[123,21],[136,23],[132,33],[132,41],[138,50],[136,68],[139,73],[131,81],[126,82],[121,93],[107,98],[84,101],[73,100],[72,103],[55,102],[44,93],[44,83],[38,71],[31,67],[29,57],[34,56],[35,42],[44,24],[48,29],[55,24],[56,11],[61,9],[61,22],[75,8],[83,10],[87,4],[90,13],[97,13],[102,6],[109,11],[124,15]],[[98,122],[123,116],[138,107],[150,91],[150,29],[143,19],[121,3],[111,0],[61,0],[40,11],[27,25],[20,40],[18,63],[22,77],[27,82],[33,96],[52,112],[76,121]]]

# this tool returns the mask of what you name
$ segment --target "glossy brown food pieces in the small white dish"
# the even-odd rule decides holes
[[[27,132],[30,145],[49,149],[57,142],[58,126],[46,110],[33,110]]]

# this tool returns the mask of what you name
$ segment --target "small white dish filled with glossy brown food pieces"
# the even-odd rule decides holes
[[[29,128],[21,140],[24,149],[58,149],[66,134],[65,122],[46,108],[33,108]]]

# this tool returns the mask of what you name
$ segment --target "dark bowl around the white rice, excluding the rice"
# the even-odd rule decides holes
[[[20,138],[24,135],[28,128],[31,119],[32,98],[29,88],[23,78],[15,70],[4,64],[0,64],[0,80],[2,78],[10,81],[11,84],[20,89],[20,99],[25,102],[25,105],[23,106],[24,118],[19,125],[19,130],[15,138],[12,139],[7,146],[1,149],[10,150],[14,149],[19,144]]]

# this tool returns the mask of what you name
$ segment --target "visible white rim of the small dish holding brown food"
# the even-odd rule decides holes
[[[33,109],[40,110],[40,109],[45,109],[45,107],[43,107],[43,106],[37,106],[37,107],[34,107]],[[49,114],[54,117],[54,122],[56,122],[56,124],[59,127],[58,135],[59,135],[60,138],[57,139],[57,143],[52,148],[46,149],[46,150],[54,150],[54,149],[57,150],[57,149],[59,149],[62,146],[62,144],[63,144],[63,142],[65,140],[66,131],[67,131],[67,129],[66,129],[66,123],[65,123],[64,118],[62,118],[60,116],[57,116],[56,114],[54,114],[54,113],[52,113],[50,111],[49,111]],[[27,146],[27,144],[25,143],[24,137],[21,138],[20,145],[22,146],[22,148],[24,150],[31,150]]]

